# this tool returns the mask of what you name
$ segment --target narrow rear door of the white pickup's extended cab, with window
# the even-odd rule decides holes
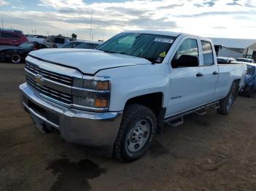
[[[214,47],[207,40],[200,40],[200,60],[203,69],[202,99],[205,104],[214,101],[219,69],[214,62]]]

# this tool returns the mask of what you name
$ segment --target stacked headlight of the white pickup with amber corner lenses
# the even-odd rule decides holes
[[[73,96],[73,103],[88,109],[108,109],[110,102],[109,77],[83,77],[80,96]]]

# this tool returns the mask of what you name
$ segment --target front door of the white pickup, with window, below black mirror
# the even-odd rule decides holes
[[[192,55],[199,59],[198,44],[198,39],[195,37],[182,39],[171,62],[178,60],[181,55]],[[171,64],[167,117],[186,112],[203,104],[201,74],[203,74],[201,66],[189,66],[188,64],[187,66],[174,67]]]

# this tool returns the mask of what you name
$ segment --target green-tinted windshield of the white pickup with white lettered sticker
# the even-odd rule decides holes
[[[146,58],[162,63],[175,37],[157,34],[122,33],[108,40],[97,50]]]

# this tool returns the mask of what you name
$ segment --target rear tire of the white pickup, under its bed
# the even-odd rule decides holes
[[[222,98],[222,100],[219,101],[219,109],[217,109],[217,112],[219,114],[229,114],[230,113],[230,109],[236,99],[237,88],[238,88],[237,82],[233,82],[227,96],[225,98]]]

